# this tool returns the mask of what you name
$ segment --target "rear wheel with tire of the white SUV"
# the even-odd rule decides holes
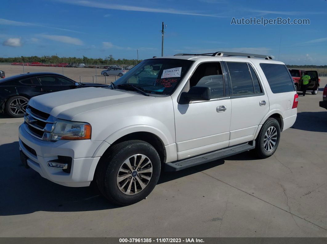
[[[259,158],[268,158],[277,150],[281,137],[279,123],[274,118],[268,118],[262,125],[255,140],[254,153]]]

